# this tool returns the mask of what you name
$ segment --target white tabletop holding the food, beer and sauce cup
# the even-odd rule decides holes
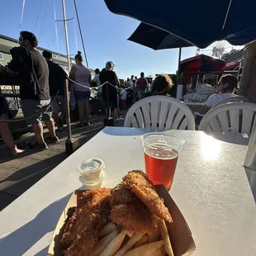
[[[114,187],[128,171],[145,168],[140,135],[146,131],[105,128],[2,210],[0,254],[45,255],[61,211],[81,186],[78,162],[102,159],[105,186]],[[168,132],[186,140],[170,193],[192,230],[197,245],[192,255],[256,255],[256,207],[241,166],[248,140],[227,135],[223,141],[202,131]]]

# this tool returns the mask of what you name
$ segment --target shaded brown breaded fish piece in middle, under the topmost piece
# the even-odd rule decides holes
[[[148,207],[122,184],[112,191],[110,219],[131,232],[150,234],[153,230]]]

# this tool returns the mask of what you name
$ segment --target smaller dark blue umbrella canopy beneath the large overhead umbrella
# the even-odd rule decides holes
[[[194,46],[178,36],[174,36],[173,34],[143,22],[140,23],[128,40],[140,45],[145,45],[154,50]]]

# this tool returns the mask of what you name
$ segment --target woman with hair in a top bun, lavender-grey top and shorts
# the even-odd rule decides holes
[[[79,121],[78,126],[89,126],[90,122],[90,83],[92,80],[92,76],[90,73],[90,69],[83,65],[83,57],[81,52],[78,51],[78,54],[74,57],[75,63],[70,70],[69,78],[71,78],[73,83],[73,91],[74,97],[78,101],[78,113],[79,113]],[[77,83],[81,84],[78,85]]]

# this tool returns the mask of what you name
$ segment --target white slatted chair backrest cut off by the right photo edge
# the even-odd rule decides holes
[[[199,130],[250,134],[254,125],[256,104],[226,103],[211,108],[202,118]]]

